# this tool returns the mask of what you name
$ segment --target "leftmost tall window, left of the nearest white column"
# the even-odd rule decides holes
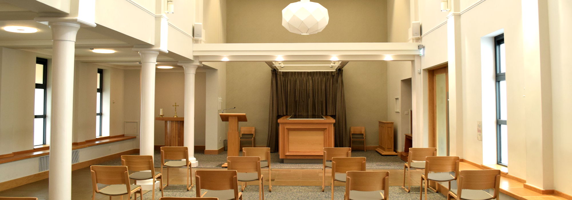
[[[34,146],[46,145],[47,59],[36,58]]]

